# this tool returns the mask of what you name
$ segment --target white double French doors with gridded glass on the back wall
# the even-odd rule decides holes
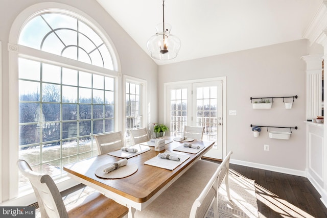
[[[205,157],[222,159],[224,79],[167,85],[167,116],[172,136],[183,134],[184,126],[204,127],[203,140],[215,141]]]

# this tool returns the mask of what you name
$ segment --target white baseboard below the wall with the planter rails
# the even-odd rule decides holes
[[[229,162],[233,163],[233,164],[237,164],[237,165],[243,165],[243,166],[249,166],[249,167],[253,167],[253,168],[265,169],[267,171],[274,171],[274,172],[290,174],[290,175],[294,175],[294,176],[307,177],[307,174],[306,174],[305,171],[298,171],[296,169],[266,165],[266,164],[261,164],[261,163],[253,163],[253,162],[248,162],[248,161],[243,161],[243,160],[235,160],[235,159],[230,159]]]

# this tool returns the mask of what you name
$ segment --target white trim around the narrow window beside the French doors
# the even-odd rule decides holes
[[[138,83],[139,85],[141,85],[141,90],[140,90],[140,94],[141,94],[141,114],[142,114],[142,127],[147,127],[149,128],[149,124],[148,124],[148,108],[146,106],[146,102],[148,99],[148,82],[146,80],[143,79],[139,79],[136,77],[131,77],[131,76],[127,76],[127,75],[123,75],[123,133],[126,132],[126,82],[130,82],[130,83]],[[126,140],[126,139],[125,139]]]

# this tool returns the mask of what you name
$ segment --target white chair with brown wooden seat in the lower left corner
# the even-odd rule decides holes
[[[22,159],[17,161],[22,175],[27,177],[34,189],[41,217],[123,217],[128,208],[116,203],[99,192],[92,193],[78,206],[67,211],[57,185],[48,174],[39,174]]]

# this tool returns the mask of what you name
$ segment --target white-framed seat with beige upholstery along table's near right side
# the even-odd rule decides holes
[[[206,217],[213,205],[218,217],[218,190],[225,179],[227,197],[230,200],[228,171],[232,152],[221,164],[198,160],[188,171],[162,192],[142,211],[136,211],[136,218],[145,217]]]

